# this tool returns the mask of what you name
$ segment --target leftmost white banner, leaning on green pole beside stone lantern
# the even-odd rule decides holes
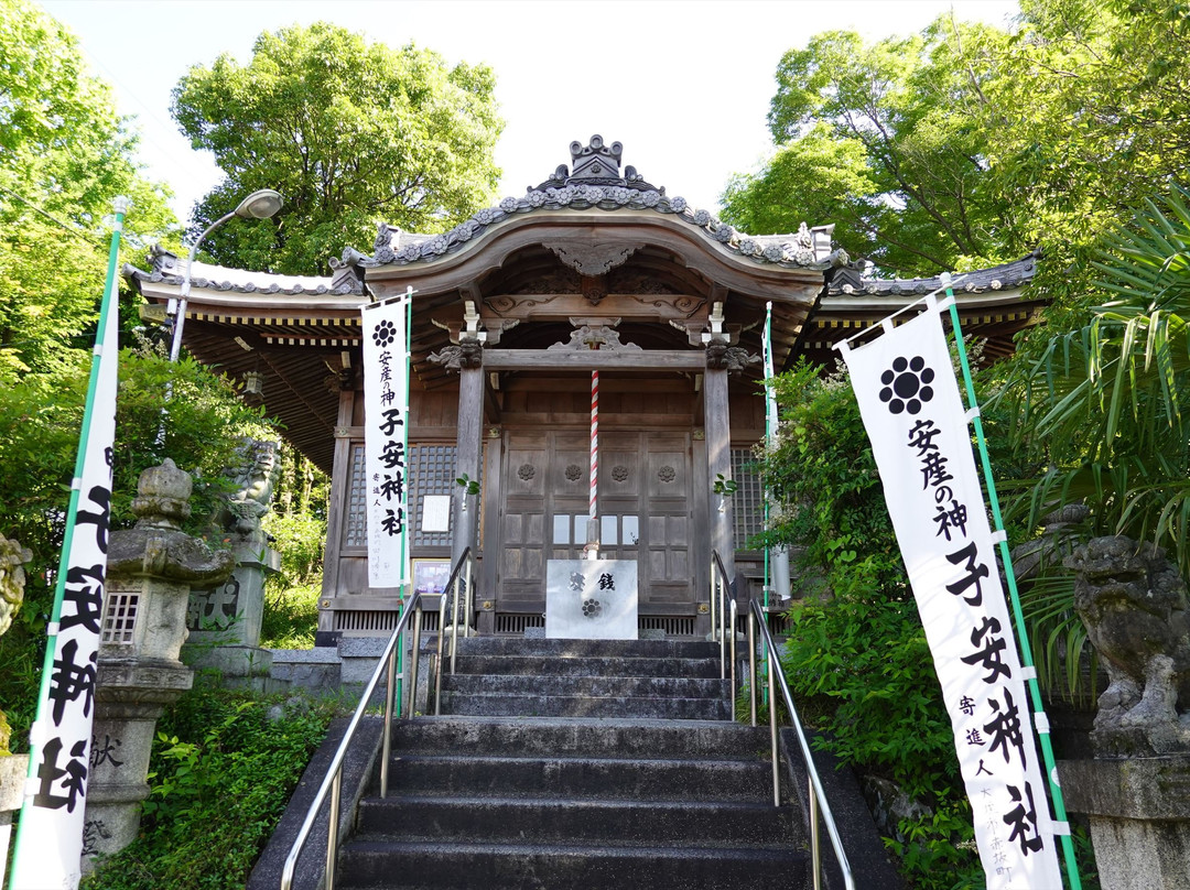
[[[42,691],[30,731],[29,778],[17,826],[11,890],[74,890],[82,878],[83,815],[112,518],[119,382],[119,290],[114,272],[127,206],[126,199],[117,199],[107,288],[48,628]]]

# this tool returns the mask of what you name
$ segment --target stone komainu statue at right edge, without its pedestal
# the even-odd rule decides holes
[[[1096,733],[1141,732],[1169,750],[1190,744],[1190,615],[1186,585],[1165,551],[1117,535],[1095,538],[1063,564],[1075,609],[1107,669]]]

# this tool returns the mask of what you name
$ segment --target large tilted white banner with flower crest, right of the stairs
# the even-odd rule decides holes
[[[988,890],[1061,890],[996,539],[938,301],[843,355],[941,682]]]

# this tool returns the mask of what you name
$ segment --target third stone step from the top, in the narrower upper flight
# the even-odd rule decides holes
[[[550,665],[544,668],[550,671]],[[443,677],[443,692],[459,695],[536,695],[589,698],[714,698],[731,695],[731,681],[701,677],[558,676],[543,673]]]

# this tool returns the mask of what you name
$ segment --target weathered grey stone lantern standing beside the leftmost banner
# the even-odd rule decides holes
[[[132,502],[136,526],[111,535],[84,857],[136,839],[157,717],[194,681],[178,660],[190,588],[218,583],[234,566],[230,551],[181,531],[190,490],[189,475],[168,458],[145,470]]]

